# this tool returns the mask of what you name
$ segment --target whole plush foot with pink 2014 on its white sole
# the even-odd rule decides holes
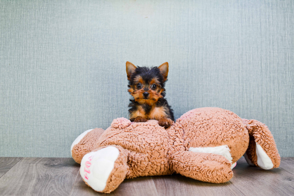
[[[122,147],[107,146],[86,154],[80,174],[85,183],[98,192],[110,193],[125,179],[127,156]]]

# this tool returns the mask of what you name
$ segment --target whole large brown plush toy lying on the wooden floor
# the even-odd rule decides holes
[[[235,162],[276,168],[280,156],[267,126],[221,108],[183,114],[169,129],[157,120],[114,119],[106,129],[81,134],[71,147],[80,174],[94,190],[109,193],[125,178],[178,173],[196,180],[229,181]]]

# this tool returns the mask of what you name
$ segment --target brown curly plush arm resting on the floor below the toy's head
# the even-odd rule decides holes
[[[172,170],[204,182],[225,183],[233,177],[231,165],[221,155],[181,151],[173,156]]]

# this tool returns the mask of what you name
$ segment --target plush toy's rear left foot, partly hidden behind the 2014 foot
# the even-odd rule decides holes
[[[94,150],[94,145],[103,132],[103,129],[89,129],[73,141],[70,147],[70,154],[75,162],[81,163],[83,156],[91,150]]]

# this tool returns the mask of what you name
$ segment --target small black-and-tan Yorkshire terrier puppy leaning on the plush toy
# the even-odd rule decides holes
[[[129,115],[132,122],[158,120],[158,124],[169,128],[174,119],[173,110],[164,99],[164,85],[167,81],[168,63],[159,67],[136,67],[126,63],[128,76],[128,92],[134,97],[130,99]]]

